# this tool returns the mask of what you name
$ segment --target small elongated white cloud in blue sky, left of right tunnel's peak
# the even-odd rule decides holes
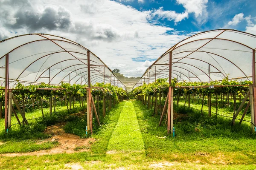
[[[152,17],[157,16],[158,19],[167,19],[169,21],[174,20],[175,23],[178,23],[182,20],[184,20],[185,18],[189,17],[189,14],[187,12],[183,12],[183,13],[177,13],[175,11],[164,11],[163,7],[154,10],[151,14]]]

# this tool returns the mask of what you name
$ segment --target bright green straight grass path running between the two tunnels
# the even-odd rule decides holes
[[[134,106],[127,101],[108,143],[108,150],[144,151],[144,144]]]

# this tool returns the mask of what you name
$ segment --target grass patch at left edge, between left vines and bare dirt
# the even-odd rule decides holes
[[[32,140],[26,140],[22,142],[8,141],[0,145],[0,153],[26,153],[38,150],[49,150],[58,145],[58,142],[44,142],[37,144]]]

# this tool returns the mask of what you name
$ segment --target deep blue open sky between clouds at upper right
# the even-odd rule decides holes
[[[186,8],[184,8],[182,4],[177,3],[176,0],[143,0],[143,3],[137,0],[116,0],[116,2],[122,3],[125,6],[132,6],[138,11],[148,11],[159,8],[163,8],[163,11],[176,11],[177,13],[186,11]],[[188,18],[176,24],[173,20],[170,21],[166,18],[157,20],[156,16],[154,19],[157,20],[157,24],[159,25],[171,27],[178,31],[195,32],[224,28],[236,14],[240,13],[243,13],[244,17],[248,15],[254,18],[256,17],[256,0],[206,0],[205,2],[207,2],[205,4],[208,17],[204,23],[198,23],[194,13],[189,13]],[[202,14],[200,17],[206,17],[205,15],[206,14]],[[238,25],[228,28],[245,31],[246,26],[246,20],[243,20]]]

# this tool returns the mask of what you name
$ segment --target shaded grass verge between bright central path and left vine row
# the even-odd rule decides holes
[[[105,118],[100,119],[101,127],[93,131],[92,137],[96,139],[96,142],[91,146],[93,153],[105,155],[108,149],[108,142],[124,105],[125,102],[119,103],[106,113]]]

